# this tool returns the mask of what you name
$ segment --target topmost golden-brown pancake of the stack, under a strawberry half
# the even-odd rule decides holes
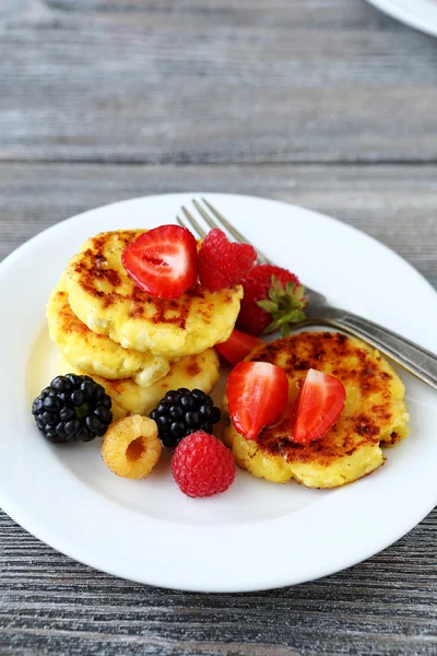
[[[143,292],[121,263],[142,230],[107,232],[87,239],[69,262],[66,289],[74,314],[93,331],[125,349],[168,360],[202,353],[225,341],[239,312],[243,288],[209,292],[194,285],[179,298]]]

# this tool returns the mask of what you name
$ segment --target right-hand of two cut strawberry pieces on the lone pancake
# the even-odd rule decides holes
[[[342,413],[345,400],[346,390],[339,378],[309,370],[297,397],[293,440],[306,444],[324,435]]]

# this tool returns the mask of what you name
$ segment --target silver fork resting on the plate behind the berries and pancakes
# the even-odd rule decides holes
[[[192,203],[209,227],[225,229],[236,242],[249,244],[246,237],[208,200],[204,198],[201,200],[203,204],[196,199],[192,200]],[[191,212],[185,207],[181,208],[181,211],[184,212],[190,229],[194,231],[200,238],[203,238],[206,233]],[[179,225],[187,227],[179,216],[176,216],[176,220]],[[272,263],[260,250],[258,250],[257,262]],[[385,355],[388,355],[391,360],[403,366],[411,374],[437,389],[437,356],[434,353],[388,328],[374,324],[374,321],[369,321],[368,319],[345,309],[333,307],[328,303],[323,294],[320,294],[315,290],[306,288],[305,296],[308,301],[308,306],[305,309],[307,318],[305,321],[295,324],[295,329],[304,326],[328,326],[330,328],[343,330],[344,332],[365,340],[381,353],[385,353]]]

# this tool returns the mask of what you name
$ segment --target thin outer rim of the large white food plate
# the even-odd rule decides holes
[[[80,218],[83,218],[86,214],[93,213],[93,212],[98,212],[101,210],[107,209],[107,208],[111,208],[114,206],[120,206],[120,204],[126,204],[126,203],[137,203],[137,202],[142,202],[142,201],[150,201],[151,199],[153,200],[158,200],[161,198],[169,198],[169,197],[174,197],[174,198],[187,198],[187,197],[199,197],[199,196],[208,196],[209,198],[220,198],[220,197],[227,197],[227,198],[239,198],[239,199],[250,199],[251,201],[261,201],[261,202],[271,202],[274,204],[282,204],[285,206],[288,209],[292,210],[297,210],[299,212],[306,212],[309,213],[311,215],[317,215],[319,218],[322,218],[323,220],[328,220],[330,222],[334,222],[336,224],[341,224],[342,229],[345,229],[346,231],[353,231],[354,233],[358,234],[361,237],[365,237],[366,239],[370,239],[371,242],[374,242],[375,244],[378,245],[378,247],[381,247],[386,250],[388,250],[391,256],[395,256],[397,258],[399,258],[399,260],[401,260],[402,265],[409,268],[409,272],[410,273],[414,273],[414,276],[417,276],[421,281],[422,284],[426,283],[426,286],[428,288],[428,290],[434,294],[434,296],[436,295],[436,291],[433,288],[433,285],[430,284],[430,282],[428,280],[426,280],[426,278],[418,272],[410,262],[408,262],[405,259],[403,259],[399,254],[397,254],[395,251],[391,250],[388,246],[386,246],[385,244],[382,244],[381,242],[379,242],[378,239],[376,239],[375,237],[373,237],[371,235],[368,235],[364,232],[362,232],[359,229],[350,225],[347,223],[344,223],[335,218],[329,216],[327,214],[323,214],[321,212],[317,212],[317,211],[312,211],[310,209],[307,208],[303,208],[300,206],[296,206],[293,203],[288,203],[288,202],[284,202],[281,200],[275,200],[275,199],[269,199],[269,198],[263,198],[263,197],[258,197],[258,196],[247,196],[247,195],[236,195],[236,194],[217,194],[217,192],[208,192],[208,191],[202,191],[202,192],[175,192],[175,194],[161,194],[161,195],[156,195],[156,196],[142,196],[142,197],[137,197],[137,198],[129,198],[129,199],[125,199],[121,201],[116,201],[113,203],[108,203],[106,206],[99,206],[96,208],[93,208],[91,210],[86,210],[84,212],[81,212],[79,214],[75,214],[73,216],[70,216],[63,221],[60,221],[56,224],[54,224],[52,226],[49,226],[47,229],[45,229],[44,231],[42,231],[40,233],[38,233],[37,235],[35,235],[34,237],[32,237],[31,239],[28,239],[26,243],[22,244],[21,246],[19,246],[15,250],[13,250],[10,255],[8,255],[3,261],[0,263],[0,277],[3,274],[3,271],[5,271],[10,266],[13,265],[15,258],[19,258],[20,255],[22,253],[25,253],[26,249],[32,249],[33,246],[35,246],[35,244],[37,244],[37,242],[44,241],[44,238],[47,236],[47,234],[50,234],[51,232],[56,233],[58,230],[62,231],[64,229],[64,225],[69,222],[74,222]],[[113,574],[119,577],[123,577],[127,578],[126,574],[123,574],[122,572],[118,571],[117,567],[111,566],[110,569],[105,567],[102,565],[102,563],[95,563],[95,562],[91,562],[88,559],[86,558],[81,558],[78,557],[78,553],[73,553],[70,551],[70,549],[66,548],[66,546],[59,547],[59,540],[48,540],[46,537],[39,537],[39,535],[42,535],[42,531],[39,531],[38,529],[35,529],[32,526],[32,522],[27,522],[27,519],[25,517],[23,517],[23,514],[25,515],[25,512],[22,513],[20,512],[20,508],[15,508],[14,507],[14,503],[13,500],[7,500],[5,499],[5,494],[3,494],[2,491],[2,487],[1,487],[1,482],[0,482],[0,494],[2,496],[1,499],[1,505],[3,507],[3,509],[14,519],[16,520],[23,528],[25,528],[25,530],[28,530],[31,534],[33,534],[35,537],[37,537],[38,539],[42,539],[44,542],[46,542],[47,544],[49,544],[51,548],[64,553],[66,555],[68,555],[69,558],[72,558],[79,562],[82,562],[83,564],[87,565],[87,566],[92,566],[96,570],[99,571],[104,571],[107,572],[108,574]],[[4,503],[5,502],[5,503]],[[369,551],[367,554],[365,554],[363,558],[359,557],[358,560],[356,560],[355,557],[351,558],[350,562],[345,562],[342,564],[341,567],[339,569],[334,569],[332,570],[332,567],[327,566],[326,571],[323,571],[323,569],[321,569],[318,573],[316,573],[316,575],[314,576],[304,576],[302,579],[294,579],[292,583],[287,582],[287,581],[273,581],[271,583],[267,583],[263,585],[260,585],[259,583],[255,583],[253,585],[245,585],[241,586],[240,584],[236,584],[235,587],[229,587],[228,584],[226,584],[226,586],[224,588],[220,588],[220,586],[201,586],[201,587],[197,587],[196,585],[189,584],[189,585],[180,585],[180,584],[176,584],[176,585],[172,585],[168,582],[162,579],[162,577],[155,579],[155,581],[150,581],[147,579],[147,582],[144,581],[144,578],[140,577],[132,577],[129,576],[129,579],[132,581],[137,581],[138,583],[146,583],[147,585],[154,585],[154,586],[158,586],[158,587],[166,587],[166,588],[174,588],[174,589],[182,589],[182,590],[190,590],[190,591],[204,591],[204,593],[211,593],[211,591],[217,591],[217,593],[238,593],[238,591],[255,591],[255,590],[262,590],[262,589],[272,589],[274,587],[283,587],[283,586],[288,586],[288,585],[297,585],[299,583],[304,583],[304,582],[308,582],[308,581],[312,581],[315,578],[319,578],[322,576],[326,576],[328,574],[332,574],[333,572],[343,570],[343,569],[347,569],[349,566],[356,564],[358,562],[362,562],[363,560],[366,560],[367,558],[369,558],[370,555],[378,553],[379,551],[386,549],[388,546],[392,544],[394,541],[397,541],[400,537],[402,537],[403,535],[405,535],[406,532],[409,532],[409,530],[411,530],[412,528],[414,528],[414,526],[416,526],[424,517],[426,517],[426,515],[433,509],[433,507],[436,505],[437,499],[435,501],[429,502],[429,504],[427,504],[426,509],[424,509],[422,516],[420,519],[415,520],[413,526],[410,526],[410,528],[406,529],[401,529],[401,534],[397,535],[397,537],[394,537],[394,539],[392,537],[387,539],[387,543],[380,548],[378,548],[377,551],[375,551],[371,547],[369,548]],[[39,534],[39,535],[38,535]],[[44,530],[43,530],[44,534]],[[60,540],[62,542],[62,540]]]

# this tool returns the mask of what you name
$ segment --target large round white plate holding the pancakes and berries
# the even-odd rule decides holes
[[[55,549],[141,583],[245,591],[331,574],[398,540],[437,502],[437,395],[411,376],[402,374],[411,437],[370,477],[330,491],[275,485],[239,470],[226,493],[188,499],[172,480],[168,456],[146,480],[119,479],[103,465],[98,441],[52,446],[31,415],[32,399],[56,374],[44,312],[68,258],[99,231],[173,222],[181,204],[200,196],[139,198],[85,212],[0,266],[0,504]],[[398,255],[298,207],[208,198],[308,285],[437,351],[437,295]]]

